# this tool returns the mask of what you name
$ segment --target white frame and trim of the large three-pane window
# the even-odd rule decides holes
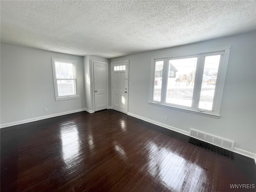
[[[224,83],[225,83],[225,79],[226,79],[226,72],[227,72],[227,68],[228,68],[228,60],[229,60],[229,55],[230,55],[230,49],[231,46],[224,46],[224,47],[218,47],[218,48],[211,48],[211,49],[206,49],[206,50],[198,50],[198,51],[192,51],[192,52],[186,52],[186,53],[180,53],[180,54],[171,54],[171,55],[164,55],[164,56],[156,56],[156,57],[152,57],[151,58],[151,70],[150,70],[150,87],[149,87],[149,104],[153,104],[156,106],[161,106],[161,107],[165,107],[165,108],[170,108],[173,110],[179,110],[179,111],[184,111],[184,112],[189,112],[192,114],[199,114],[199,115],[203,115],[203,116],[208,116],[208,117],[213,117],[213,118],[219,118],[220,117],[220,105],[221,105],[221,101],[222,101],[222,94],[223,94],[223,90],[224,90]],[[214,113],[208,113],[208,112],[204,112],[204,111],[198,111],[198,110],[192,110],[192,109],[187,109],[185,106],[184,107],[180,107],[180,106],[175,106],[175,105],[167,105],[167,104],[162,104],[159,102],[156,102],[153,100],[153,95],[154,95],[154,62],[157,60],[163,60],[166,59],[166,61],[168,61],[168,59],[170,58],[177,58],[177,57],[186,57],[186,56],[194,56],[194,55],[198,55],[198,54],[207,54],[207,53],[212,53],[212,52],[224,52],[224,57],[223,57],[223,61],[222,61],[222,68],[220,71],[220,78],[219,78],[219,85],[218,85],[218,90],[217,91],[217,97],[216,97],[216,104],[215,104],[215,109],[214,109]],[[168,66],[166,64],[166,66]],[[166,74],[163,73],[163,80]],[[164,81],[163,81],[164,82]],[[162,94],[165,94],[166,90],[162,90]]]

